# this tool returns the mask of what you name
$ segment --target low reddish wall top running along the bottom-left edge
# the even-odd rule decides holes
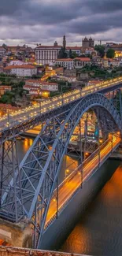
[[[78,254],[68,254],[49,250],[31,250],[18,247],[0,247],[0,256],[75,256]]]

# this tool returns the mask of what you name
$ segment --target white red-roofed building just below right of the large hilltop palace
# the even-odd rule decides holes
[[[74,62],[73,62],[72,58],[57,59],[55,61],[55,65],[61,66],[65,69],[73,69],[74,68]]]

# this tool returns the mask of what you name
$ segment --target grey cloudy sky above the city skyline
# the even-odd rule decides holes
[[[0,44],[122,41],[122,0],[0,0]]]

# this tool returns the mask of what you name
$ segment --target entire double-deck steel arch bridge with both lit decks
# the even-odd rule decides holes
[[[13,224],[29,221],[33,247],[40,247],[43,234],[50,224],[120,145],[121,82],[122,77],[102,82],[95,88],[91,86],[84,87],[82,91],[71,91],[53,98],[52,102],[47,100],[41,107],[33,106],[12,114],[9,124],[6,117],[2,118],[0,217]],[[109,92],[107,98],[104,95],[106,92]],[[116,98],[120,111],[117,105],[114,106]],[[82,154],[80,120],[90,109],[97,118],[98,148],[85,159]],[[40,123],[41,132],[18,165],[17,135]],[[79,166],[59,184],[62,161],[77,126],[81,146]],[[99,143],[100,131],[102,145]],[[86,138],[87,121],[84,132]]]

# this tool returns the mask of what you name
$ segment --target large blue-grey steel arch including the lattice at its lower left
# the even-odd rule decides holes
[[[43,236],[50,200],[69,140],[83,113],[91,108],[98,113],[104,136],[111,131],[121,132],[120,114],[113,103],[98,93],[87,95],[71,110],[46,121],[9,185],[6,186],[6,177],[2,180],[0,217],[16,222],[24,217],[31,220],[35,247],[39,247]]]

